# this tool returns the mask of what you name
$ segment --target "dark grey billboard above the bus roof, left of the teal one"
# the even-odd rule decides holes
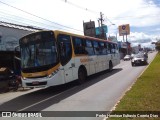
[[[84,30],[84,35],[95,37],[96,36],[95,22],[94,21],[85,23],[83,22],[83,30]]]

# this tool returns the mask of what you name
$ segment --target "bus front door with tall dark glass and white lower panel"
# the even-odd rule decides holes
[[[58,36],[58,44],[60,51],[60,61],[63,66],[63,76],[65,82],[70,82],[73,80],[73,63],[72,63],[72,44],[69,35]]]

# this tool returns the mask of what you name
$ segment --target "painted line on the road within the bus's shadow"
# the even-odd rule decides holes
[[[77,86],[75,86],[75,87],[77,87]],[[75,87],[73,87],[73,88],[75,88]],[[73,88],[71,88],[71,89],[69,89],[69,90],[72,90]],[[64,92],[67,92],[67,91],[68,91],[68,90],[65,90]],[[40,104],[40,103],[42,103],[42,102],[45,102],[45,101],[47,101],[47,100],[49,100],[49,99],[52,99],[52,98],[54,98],[54,97],[56,97],[56,96],[58,96],[58,95],[60,95],[60,94],[62,94],[62,93],[64,93],[64,92],[61,92],[61,93],[59,93],[59,94],[56,94],[56,95],[51,96],[51,97],[49,97],[49,98],[46,98],[46,99],[44,99],[44,100],[42,100],[42,101],[39,101],[39,102],[37,102],[37,103],[35,103],[35,104],[32,104],[32,105],[30,105],[30,106],[27,106],[27,107],[25,107],[25,108],[22,108],[22,109],[18,110],[18,112],[22,112],[22,111],[24,111],[24,110],[26,110],[26,109],[28,109],[28,108],[30,108],[30,107],[33,107],[33,106],[35,106],[35,105],[38,105],[38,104]]]

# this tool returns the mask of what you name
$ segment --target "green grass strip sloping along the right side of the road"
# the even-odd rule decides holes
[[[160,52],[141,77],[137,79],[131,90],[121,99],[113,114],[117,111],[160,111]],[[140,118],[109,118],[109,120],[128,119],[139,120]]]

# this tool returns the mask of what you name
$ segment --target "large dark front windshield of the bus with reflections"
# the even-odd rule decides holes
[[[53,35],[43,32],[33,34],[23,38],[20,45],[22,68],[47,66],[56,64],[58,61],[57,47]]]

